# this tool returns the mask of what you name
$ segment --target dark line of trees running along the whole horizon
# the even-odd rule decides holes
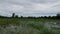
[[[15,15],[15,13],[12,13],[12,16],[11,17],[7,17],[7,16],[0,16],[0,18],[57,18],[57,19],[60,19],[60,13],[57,13],[56,16],[40,16],[40,17],[31,17],[31,16],[28,16],[28,17],[19,17],[18,15]]]

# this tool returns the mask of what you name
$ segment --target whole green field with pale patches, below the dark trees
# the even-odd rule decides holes
[[[60,19],[0,18],[0,34],[60,34],[60,28],[50,27]]]

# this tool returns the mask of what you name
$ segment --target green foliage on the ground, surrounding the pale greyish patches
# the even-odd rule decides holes
[[[9,31],[7,28],[3,28],[2,31],[4,31],[5,34],[60,34],[58,31],[52,31],[52,29],[48,29],[44,27],[45,22],[60,22],[58,19],[46,19],[46,18],[40,18],[40,19],[34,19],[34,18],[0,18],[0,26],[7,27],[8,25],[18,25],[20,27],[16,27],[13,30]],[[20,30],[19,30],[20,29]],[[23,31],[25,29],[25,31]],[[34,32],[35,30],[38,30],[37,32]],[[28,31],[27,31],[28,30]],[[34,30],[34,31],[33,31]],[[26,31],[28,33],[26,33]],[[24,32],[24,33],[23,33]],[[34,33],[33,33],[34,32]]]

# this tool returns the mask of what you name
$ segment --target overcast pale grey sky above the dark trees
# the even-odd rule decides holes
[[[54,16],[60,12],[60,0],[0,0],[0,15]]]

